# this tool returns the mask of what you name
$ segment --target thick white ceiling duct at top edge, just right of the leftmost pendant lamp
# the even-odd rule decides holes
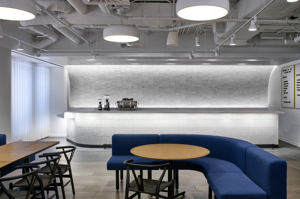
[[[66,14],[71,14],[75,11],[74,8],[71,6],[71,4],[65,0],[36,0],[36,1],[49,11],[60,11]]]

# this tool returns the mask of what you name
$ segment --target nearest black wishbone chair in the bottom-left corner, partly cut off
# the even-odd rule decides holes
[[[33,169],[35,168],[35,169]],[[12,177],[2,177],[0,178],[0,198],[1,199],[35,199],[35,192],[33,190],[33,185],[38,176],[38,171],[41,167],[38,165],[26,165],[26,166],[16,166],[15,169],[23,169],[24,174],[12,176]],[[27,170],[30,169],[29,172]],[[2,182],[16,179],[25,179],[28,185],[27,191],[22,190],[7,190]]]

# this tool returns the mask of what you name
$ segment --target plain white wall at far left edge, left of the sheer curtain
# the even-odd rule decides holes
[[[0,134],[11,138],[11,50],[0,46]]]

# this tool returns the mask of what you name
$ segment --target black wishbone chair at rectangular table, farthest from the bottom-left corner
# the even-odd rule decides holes
[[[63,146],[63,147],[56,147],[56,149],[62,149],[62,151],[53,152],[53,153],[44,153],[43,155],[46,155],[46,154],[64,154],[64,157],[67,160],[67,164],[66,165],[58,164],[58,167],[55,171],[55,175],[56,175],[56,177],[59,177],[60,182],[57,183],[57,185],[61,187],[61,192],[62,192],[63,199],[66,199],[66,195],[65,195],[65,192],[64,192],[64,187],[67,186],[69,183],[71,183],[73,195],[75,195],[75,188],[74,188],[74,182],[73,182],[73,176],[72,176],[72,170],[71,170],[70,163],[71,163],[71,160],[73,158],[76,147],[75,146]],[[65,150],[65,149],[67,149],[67,150]],[[68,157],[69,153],[70,153],[70,156]],[[67,171],[69,171],[69,174],[65,174]],[[48,165],[42,167],[40,173],[42,173],[42,174],[51,173]],[[64,184],[63,178],[70,178],[70,180],[67,181],[67,183]],[[47,193],[49,193],[49,190],[53,190],[53,187],[49,187],[47,189]]]

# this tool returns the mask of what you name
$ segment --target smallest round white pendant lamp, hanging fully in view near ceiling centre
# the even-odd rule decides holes
[[[131,25],[111,25],[103,30],[103,39],[110,42],[135,42],[139,37],[139,29]]]

